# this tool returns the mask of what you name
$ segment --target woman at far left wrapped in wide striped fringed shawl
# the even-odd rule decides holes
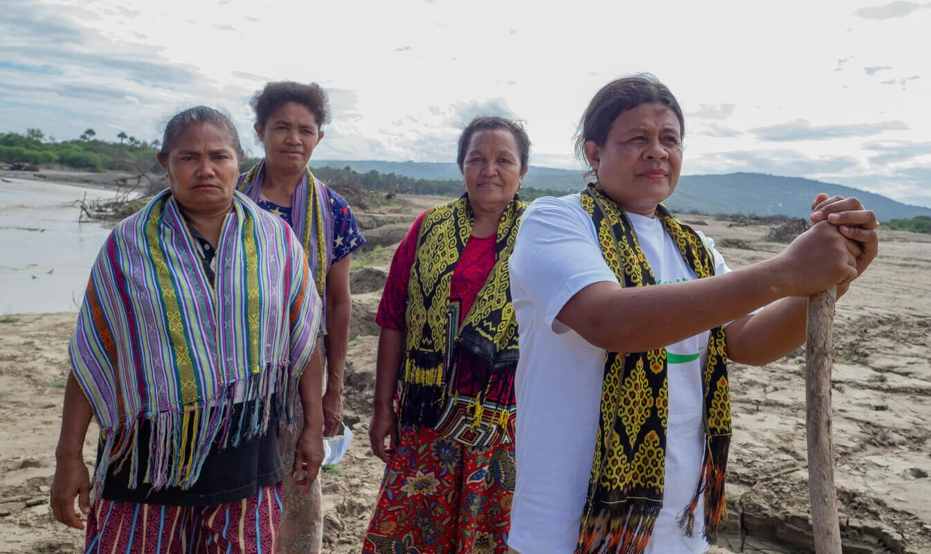
[[[278,424],[293,423],[298,397],[290,472],[311,482],[323,459],[322,304],[298,239],[236,192],[242,148],[228,117],[175,115],[158,159],[169,190],[117,223],[91,269],[52,507],[81,529],[80,496],[88,552],[274,552]]]

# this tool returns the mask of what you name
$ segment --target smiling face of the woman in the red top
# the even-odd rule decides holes
[[[479,209],[497,210],[518,192],[526,168],[520,167],[520,150],[514,133],[503,128],[472,133],[463,162],[469,202]]]

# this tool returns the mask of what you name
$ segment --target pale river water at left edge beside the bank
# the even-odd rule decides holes
[[[7,182],[9,181],[9,182]],[[0,317],[76,311],[110,225],[78,222],[74,204],[113,191],[0,181]]]

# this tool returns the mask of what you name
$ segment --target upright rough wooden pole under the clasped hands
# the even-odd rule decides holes
[[[834,490],[834,442],[830,436],[831,328],[837,287],[808,299],[805,343],[805,429],[808,438],[808,492],[816,554],[842,554]]]

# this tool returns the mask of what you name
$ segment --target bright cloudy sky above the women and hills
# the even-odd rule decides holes
[[[3,0],[0,131],[160,138],[220,105],[316,81],[315,158],[453,161],[473,115],[526,122],[531,163],[612,78],[651,72],[686,113],[683,173],[760,171],[931,206],[931,3],[896,0]],[[552,7],[550,7],[552,6]]]

